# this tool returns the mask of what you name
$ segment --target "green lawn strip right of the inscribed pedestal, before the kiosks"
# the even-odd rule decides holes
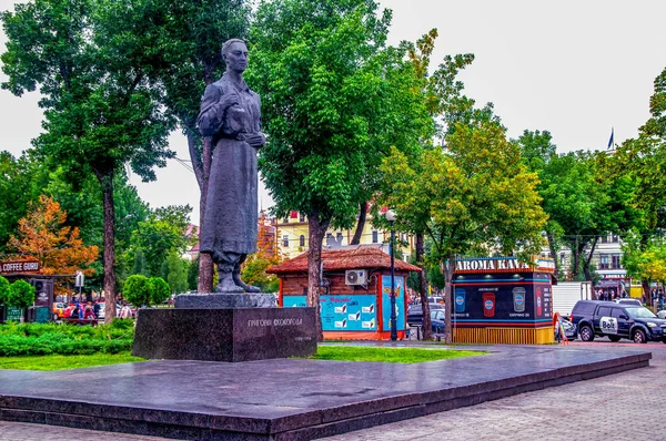
[[[375,348],[371,346],[320,346],[315,360],[381,361],[387,363],[420,363],[461,357],[482,356],[486,352],[456,349]]]

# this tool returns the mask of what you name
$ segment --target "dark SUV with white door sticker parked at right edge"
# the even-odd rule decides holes
[[[666,343],[666,320],[657,318],[643,306],[578,300],[571,320],[583,341],[592,341],[599,336],[608,337],[610,341],[627,338],[636,343],[646,343],[648,340]]]

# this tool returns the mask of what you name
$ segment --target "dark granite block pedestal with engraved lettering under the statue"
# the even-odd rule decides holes
[[[174,309],[139,310],[132,355],[235,362],[316,353],[315,309],[274,305],[266,294],[178,296]]]

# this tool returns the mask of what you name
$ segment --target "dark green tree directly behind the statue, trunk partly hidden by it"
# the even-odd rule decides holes
[[[212,162],[211,139],[202,139],[196,129],[201,96],[205,86],[224,71],[222,43],[246,38],[250,23],[248,0],[150,0],[143,19],[154,24],[151,45],[160,58],[149,75],[162,84],[161,102],[178,119],[188,139],[192,168],[200,188],[200,213],[204,218],[208,182]],[[201,230],[200,230],[201,234]],[[213,288],[213,263],[208,254],[200,258],[199,291]]]

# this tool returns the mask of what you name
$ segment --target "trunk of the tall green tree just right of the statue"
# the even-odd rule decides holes
[[[329,221],[320,222],[319,213],[307,213],[309,252],[307,252],[307,306],[316,311],[317,341],[324,341],[322,316],[320,314],[320,294],[322,289],[322,242],[329,228]]]

